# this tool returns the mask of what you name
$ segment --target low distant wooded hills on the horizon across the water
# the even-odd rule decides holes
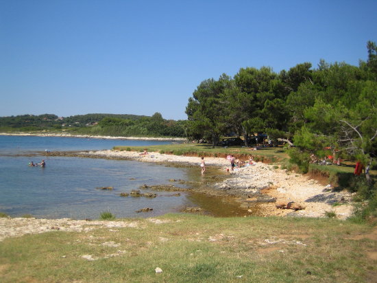
[[[184,121],[130,114],[86,114],[58,117],[53,114],[0,117],[0,131],[69,131],[111,136],[184,137]]]

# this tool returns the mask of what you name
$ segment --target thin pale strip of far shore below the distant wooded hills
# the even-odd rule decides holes
[[[102,135],[71,135],[68,133],[0,133],[0,135],[14,136],[36,136],[36,137],[78,137],[85,139],[135,139],[135,140],[157,140],[157,141],[186,141],[182,137],[112,137]]]

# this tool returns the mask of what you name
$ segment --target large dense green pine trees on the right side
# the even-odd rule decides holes
[[[367,43],[368,60],[301,63],[275,73],[269,67],[241,68],[231,78],[204,80],[186,106],[187,133],[213,146],[235,132],[245,146],[254,133],[285,140],[293,161],[307,170],[311,156],[376,161],[377,47]]]

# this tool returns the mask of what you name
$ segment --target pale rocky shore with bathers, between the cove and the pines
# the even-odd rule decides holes
[[[175,163],[183,166],[198,166],[198,168],[200,164],[199,157],[166,155],[159,152],[141,155],[140,152],[134,151],[99,150],[77,152],[77,155],[92,158]],[[215,183],[216,190],[209,192],[210,194],[235,196],[241,206],[247,210],[252,210],[258,205],[260,215],[326,217],[328,212],[333,212],[339,219],[345,219],[352,215],[352,194],[335,192],[330,185],[322,185],[302,174],[287,172],[278,166],[262,162],[255,162],[252,166],[228,171],[230,163],[225,158],[206,157],[204,160],[206,166],[216,166],[223,172],[229,172],[230,175],[224,181]]]

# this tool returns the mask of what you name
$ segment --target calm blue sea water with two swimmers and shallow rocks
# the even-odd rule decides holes
[[[156,198],[121,197],[141,185],[171,184],[171,179],[201,181],[200,169],[128,160],[53,157],[46,151],[105,150],[113,146],[151,146],[172,141],[0,135],[0,212],[12,217],[98,219],[102,212],[117,218],[144,218],[206,203],[203,195],[155,192]],[[29,162],[45,160],[42,168]],[[198,161],[199,164],[199,161]],[[183,182],[182,182],[183,183]],[[173,185],[186,188],[184,183]],[[99,190],[112,187],[113,190]],[[149,192],[143,190],[142,192]],[[213,202],[213,199],[210,201]],[[220,207],[219,207],[220,205]],[[150,207],[150,212],[136,212]],[[223,210],[224,205],[212,203]]]

